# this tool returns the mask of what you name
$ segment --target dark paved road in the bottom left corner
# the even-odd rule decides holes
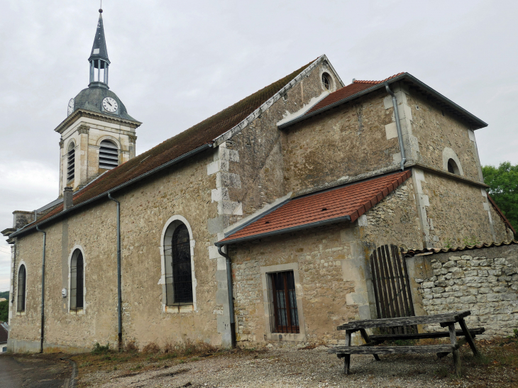
[[[57,388],[70,378],[72,368],[52,355],[0,355],[1,388]]]

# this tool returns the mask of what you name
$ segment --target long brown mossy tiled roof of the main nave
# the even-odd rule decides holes
[[[203,145],[212,143],[214,138],[226,133],[226,131],[243,121],[244,118],[255,111],[255,109],[258,109],[265,101],[268,101],[270,97],[277,93],[282,87],[285,87],[288,82],[292,81],[294,77],[297,77],[298,74],[313,62],[314,61],[304,65],[299,70],[295,70],[286,77],[268,85],[268,87],[260,89],[258,92],[216,113],[214,116],[206,118],[206,120],[192,126],[186,131],[165,140],[145,153],[128,160],[128,162],[114,168],[114,170],[105,172],[101,177],[75,194],[73,199],[74,205],[81,204],[99,194],[108,192],[110,189],[114,189],[114,187],[145,174],[145,172],[149,172],[170,160],[174,160]],[[62,210],[63,206],[60,204],[53,211],[50,211],[50,213],[40,218],[38,223],[60,213]]]

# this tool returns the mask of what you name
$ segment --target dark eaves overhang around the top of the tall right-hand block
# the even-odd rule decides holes
[[[467,121],[470,124],[470,127],[472,130],[485,128],[487,127],[487,123],[485,121],[480,120],[477,116],[473,115],[472,113],[466,111],[463,109],[462,106],[459,106],[458,104],[451,101],[451,99],[448,99],[446,96],[443,96],[443,94],[437,92],[435,89],[429,87],[428,85],[424,84],[424,82],[419,81],[416,77],[414,77],[412,74],[404,73],[397,77],[394,77],[386,82],[382,82],[380,84],[375,84],[373,87],[370,87],[368,89],[365,89],[361,92],[358,92],[356,94],[353,94],[352,96],[348,96],[345,99],[341,99],[339,101],[334,102],[333,104],[329,104],[328,106],[324,106],[321,109],[318,109],[316,111],[313,111],[311,113],[303,114],[297,118],[294,118],[291,121],[287,121],[286,123],[282,123],[280,126],[278,126],[279,129],[288,128],[296,123],[300,123],[301,121],[305,121],[308,118],[312,118],[316,115],[319,115],[321,113],[325,113],[326,111],[329,111],[331,109],[336,108],[337,106],[341,106],[343,104],[346,104],[349,101],[352,101],[354,99],[358,99],[360,96],[364,96],[365,94],[375,92],[378,89],[385,89],[386,84],[393,84],[395,82],[405,82],[410,87],[414,87],[418,90],[418,92],[421,92],[421,94],[424,94],[426,98],[431,99],[432,101],[436,102],[436,104],[439,104],[439,106],[443,107],[443,109],[446,109],[450,113],[453,113],[454,115],[458,116],[463,121]]]

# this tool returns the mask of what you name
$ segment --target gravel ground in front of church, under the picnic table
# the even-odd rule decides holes
[[[469,351],[469,350],[468,350]],[[187,362],[155,362],[136,370],[131,363],[119,370],[90,372],[79,387],[517,387],[518,372],[470,364],[463,351],[464,376],[451,377],[451,355],[352,355],[351,375],[343,375],[343,360],[321,346],[311,350],[272,349],[193,357]],[[165,365],[164,365],[165,364]],[[124,369],[122,369],[124,368]],[[146,370],[147,369],[147,370]],[[470,374],[472,376],[470,376]],[[497,378],[493,378],[497,376]]]

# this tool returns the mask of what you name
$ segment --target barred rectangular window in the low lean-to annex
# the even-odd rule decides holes
[[[300,333],[293,271],[270,274],[272,280],[275,332]]]

